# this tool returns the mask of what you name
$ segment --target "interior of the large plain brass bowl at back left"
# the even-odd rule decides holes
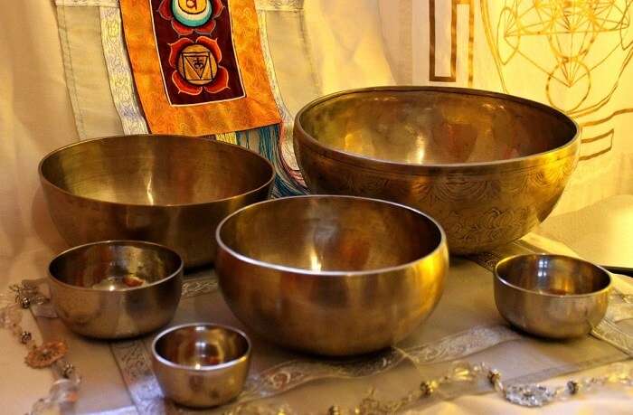
[[[42,163],[43,177],[79,196],[126,204],[191,204],[248,193],[272,167],[239,146],[176,136],[108,137],[64,147]]]

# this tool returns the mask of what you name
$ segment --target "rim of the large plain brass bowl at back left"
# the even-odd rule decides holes
[[[212,201],[209,202],[197,202],[197,203],[169,203],[169,204],[148,204],[148,203],[124,203],[124,202],[113,202],[113,201],[109,201],[109,200],[104,200],[104,199],[98,199],[98,198],[94,198],[94,197],[87,197],[81,194],[77,194],[77,193],[72,193],[66,189],[61,188],[60,186],[58,186],[57,184],[53,184],[48,177],[46,177],[45,174],[43,174],[43,165],[44,163],[52,156],[61,153],[62,151],[71,148],[73,146],[81,146],[87,143],[93,143],[93,142],[97,142],[97,141],[105,141],[108,140],[109,138],[148,138],[151,137],[152,139],[162,139],[164,137],[176,137],[177,139],[191,139],[191,140],[204,140],[206,142],[209,143],[213,143],[213,145],[218,145],[218,146],[233,146],[233,147],[238,147],[243,151],[249,152],[250,154],[254,155],[254,156],[258,156],[262,161],[264,161],[266,163],[266,165],[268,165],[270,167],[270,177],[269,179],[264,183],[261,184],[259,187],[256,187],[254,189],[249,190],[248,192],[244,192],[244,193],[237,193],[234,194],[232,196],[228,196],[228,197],[224,197],[222,199],[214,199]],[[42,160],[40,160],[40,163],[37,166],[37,171],[40,175],[40,181],[43,184],[46,184],[48,186],[51,186],[53,189],[55,189],[56,191],[69,195],[71,197],[75,197],[81,200],[86,200],[86,201],[90,201],[90,202],[97,202],[97,203],[107,203],[110,205],[115,205],[115,206],[134,206],[134,207],[144,207],[144,208],[167,208],[167,207],[187,207],[187,206],[201,206],[201,205],[206,205],[206,204],[212,204],[212,203],[222,203],[222,202],[227,202],[227,201],[231,201],[235,198],[239,198],[239,197],[243,197],[243,196],[248,196],[252,193],[257,193],[260,192],[260,190],[265,189],[267,187],[270,186],[270,184],[273,184],[273,182],[275,181],[275,177],[277,175],[276,171],[275,171],[275,166],[272,165],[272,163],[270,163],[269,159],[267,159],[264,156],[261,156],[259,153],[256,153],[255,151],[252,151],[250,148],[246,148],[244,146],[238,146],[236,144],[232,144],[232,143],[227,143],[225,141],[221,141],[218,139],[213,139],[210,137],[193,137],[193,136],[184,136],[184,135],[178,135],[178,134],[131,134],[129,136],[125,136],[125,135],[115,135],[115,136],[106,136],[106,137],[96,137],[96,138],[90,138],[87,140],[81,140],[78,141],[76,143],[71,143],[69,145],[66,146],[61,146],[59,148],[56,148],[52,151],[50,151],[49,153],[47,153],[45,156],[43,156]]]

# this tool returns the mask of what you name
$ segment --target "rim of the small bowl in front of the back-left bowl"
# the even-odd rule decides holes
[[[95,288],[90,288],[90,287],[80,287],[80,286],[75,286],[72,284],[69,284],[67,282],[61,281],[61,279],[55,277],[51,271],[51,266],[52,263],[57,260],[57,259],[61,259],[62,256],[74,251],[74,250],[80,250],[80,249],[84,249],[87,247],[90,247],[92,245],[132,245],[132,246],[153,246],[155,248],[161,249],[161,250],[168,250],[170,252],[172,252],[173,254],[175,254],[175,257],[177,259],[179,259],[179,264],[178,267],[176,268],[176,270],[174,272],[172,272],[171,274],[169,274],[168,276],[166,276],[165,278],[161,278],[158,279],[156,281],[153,281],[151,283],[146,284],[145,286],[138,286],[138,287],[130,287],[130,288],[123,288],[123,289],[116,289],[114,291],[109,291],[109,290],[105,290],[105,289],[95,289]],[[66,288],[71,288],[71,289],[76,289],[76,290],[80,290],[80,291],[88,291],[88,292],[95,292],[95,293],[104,293],[104,295],[108,296],[108,295],[116,295],[116,294],[121,294],[121,293],[127,293],[130,291],[137,291],[137,290],[141,290],[141,289],[145,289],[145,288],[151,288],[151,287],[155,287],[159,284],[164,283],[165,281],[175,278],[177,277],[179,274],[182,274],[184,271],[184,260],[183,257],[176,252],[175,250],[172,250],[169,247],[166,247],[165,245],[161,245],[160,243],[156,243],[156,242],[149,242],[149,241],[137,241],[137,240],[108,240],[108,241],[96,241],[96,242],[88,242],[88,243],[84,243],[81,245],[77,245],[74,246],[68,250],[63,250],[61,251],[59,254],[55,255],[55,257],[53,259],[51,259],[51,261],[48,264],[47,267],[47,271],[48,271],[48,276],[49,278],[55,283],[55,284],[59,284],[62,287],[66,287]]]

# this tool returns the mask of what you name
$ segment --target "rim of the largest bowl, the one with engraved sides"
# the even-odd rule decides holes
[[[552,113],[553,116],[555,116],[556,118],[561,118],[566,123],[570,124],[574,129],[574,134],[562,146],[557,146],[555,148],[552,148],[540,153],[534,153],[532,155],[527,155],[527,156],[513,157],[513,158],[507,158],[503,160],[472,162],[472,163],[414,164],[414,163],[402,163],[402,162],[385,160],[382,158],[363,156],[357,153],[350,153],[347,151],[339,150],[332,146],[325,146],[323,143],[319,142],[315,137],[312,137],[311,134],[308,134],[307,131],[304,129],[303,125],[301,124],[301,118],[304,115],[304,113],[306,113],[310,109],[330,99],[335,99],[335,98],[342,97],[345,95],[365,94],[369,92],[383,92],[383,91],[395,91],[395,92],[437,91],[437,92],[444,92],[444,93],[449,93],[449,94],[476,95],[480,97],[490,97],[490,98],[495,98],[495,99],[510,100],[510,101],[517,102],[519,104],[523,104],[528,107],[532,107],[532,108],[536,108],[542,111]],[[381,86],[381,87],[358,88],[358,89],[352,89],[352,90],[341,90],[341,91],[337,91],[337,92],[325,95],[323,97],[319,97],[317,99],[314,99],[308,102],[303,108],[299,109],[297,116],[295,117],[295,129],[300,132],[300,136],[304,137],[307,140],[308,145],[316,147],[317,149],[322,150],[322,152],[325,151],[327,153],[326,155],[322,155],[322,156],[326,156],[329,158],[344,158],[348,160],[352,159],[355,161],[371,161],[373,165],[364,166],[364,168],[371,169],[371,170],[379,170],[379,171],[382,171],[383,169],[393,169],[393,168],[396,168],[399,171],[401,169],[411,170],[411,168],[413,169],[420,169],[420,168],[442,169],[442,168],[471,168],[471,167],[477,168],[477,167],[487,167],[487,166],[512,165],[515,163],[522,163],[522,162],[538,162],[538,159],[542,158],[543,156],[560,153],[566,149],[569,149],[570,147],[576,146],[580,142],[580,137],[581,137],[581,128],[579,127],[578,123],[575,120],[566,116],[559,109],[550,107],[548,105],[542,104],[532,99],[524,99],[521,97],[516,97],[514,95],[509,95],[509,94],[505,94],[501,92],[488,91],[488,90],[476,90],[476,89],[471,89],[471,88],[456,88],[456,87],[439,87],[439,86],[415,86],[415,85]],[[295,140],[297,139],[298,139],[297,135],[295,134]],[[580,151],[580,146],[577,146],[574,154],[577,155],[579,151]],[[559,158],[562,158],[562,157],[559,157]]]

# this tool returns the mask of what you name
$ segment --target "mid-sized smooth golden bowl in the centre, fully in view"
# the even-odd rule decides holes
[[[222,294],[244,325],[315,354],[363,354],[430,315],[449,268],[439,224],[353,196],[256,203],[216,232]]]

